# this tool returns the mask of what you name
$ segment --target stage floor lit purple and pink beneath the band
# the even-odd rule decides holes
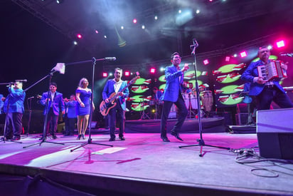
[[[47,141],[64,145],[23,148],[39,143],[38,136],[23,135],[23,143],[1,142],[1,174],[42,175],[94,195],[99,190],[117,195],[293,195],[292,162],[236,162],[237,150],[254,148],[258,155],[254,133],[203,133],[206,145],[233,149],[203,146],[203,157],[198,156],[198,146],[179,148],[197,144],[198,133],[181,133],[183,142],[168,133],[170,143],[162,142],[159,133],[126,133],[126,140],[114,142],[108,141],[109,135],[92,134],[93,143],[113,147],[89,144],[73,152],[87,140],[59,134],[58,139]],[[256,160],[245,152],[242,155],[243,161]],[[252,171],[255,168],[263,170]]]

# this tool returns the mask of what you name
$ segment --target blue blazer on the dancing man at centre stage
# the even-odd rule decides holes
[[[181,78],[179,79],[180,76]],[[174,65],[165,68],[166,87],[162,100],[169,100],[171,102],[178,100],[183,77],[182,71],[178,71]]]

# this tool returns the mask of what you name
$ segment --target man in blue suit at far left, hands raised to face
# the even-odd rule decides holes
[[[24,113],[23,102],[26,93],[22,89],[22,83],[16,82],[9,87],[9,96],[5,99],[4,113],[6,113],[6,131],[4,137],[9,140],[20,140],[22,132],[22,116]],[[13,138],[12,138],[13,133]]]

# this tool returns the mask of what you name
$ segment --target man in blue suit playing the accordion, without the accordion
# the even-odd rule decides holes
[[[270,63],[270,51],[267,48],[258,50],[259,61],[250,63],[250,66],[244,71],[241,79],[250,82],[249,96],[255,96],[257,110],[269,110],[272,101],[277,103],[280,108],[292,108],[293,104],[286,92],[279,85],[279,79],[265,81],[258,75],[257,66],[263,66]],[[281,64],[284,71],[287,71],[287,64]]]

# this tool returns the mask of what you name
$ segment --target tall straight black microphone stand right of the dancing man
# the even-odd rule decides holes
[[[197,66],[196,66],[196,47],[198,47],[198,42],[196,41],[195,38],[193,38],[193,45],[190,46],[192,48],[192,52],[191,55],[194,56],[194,73],[196,76],[197,73]],[[197,100],[197,105],[198,105],[198,129],[199,129],[199,134],[201,136],[200,139],[196,139],[196,141],[198,142],[198,144],[196,145],[183,145],[183,146],[179,146],[179,148],[186,148],[186,147],[191,147],[191,146],[200,146],[201,150],[199,153],[200,157],[203,157],[203,146],[209,146],[209,147],[214,147],[214,148],[223,148],[223,149],[227,149],[230,150],[230,148],[226,148],[226,147],[221,147],[221,146],[215,146],[215,145],[207,145],[204,141],[203,141],[203,127],[201,124],[201,105],[200,105],[200,99],[199,99],[199,89],[198,89],[198,78],[196,76],[196,96],[198,97]]]

